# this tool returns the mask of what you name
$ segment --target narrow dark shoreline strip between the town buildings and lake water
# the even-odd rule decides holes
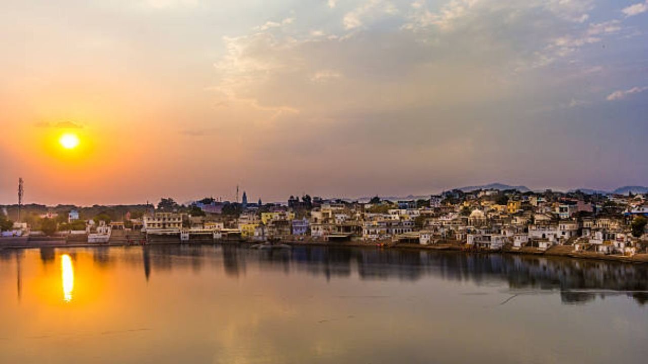
[[[89,243],[72,243],[67,244],[64,240],[56,242],[32,242],[32,244],[19,244],[19,245],[5,245],[2,244],[2,239],[0,239],[0,251],[5,249],[14,250],[14,249],[41,249],[41,248],[87,248],[87,247],[137,247],[137,246],[157,246],[157,245],[251,245],[259,244],[259,242],[240,242],[232,241],[216,241],[213,242],[152,242],[149,244],[125,244],[124,242],[115,242],[113,244],[89,244]],[[640,253],[634,256],[621,256],[621,255],[601,255],[599,253],[587,253],[587,252],[574,252],[574,251],[564,251],[564,249],[547,249],[546,251],[540,250],[531,250],[531,249],[502,249],[500,251],[480,251],[474,249],[464,249],[461,245],[457,244],[437,244],[437,245],[419,245],[419,244],[398,244],[398,245],[389,245],[384,246],[376,245],[376,242],[364,243],[364,242],[304,242],[304,241],[287,241],[281,242],[281,244],[286,244],[290,246],[313,246],[313,247],[363,247],[363,248],[374,248],[374,249],[397,249],[397,250],[417,250],[417,251],[456,251],[460,253],[467,254],[511,254],[511,255],[526,255],[526,256],[553,256],[561,258],[570,258],[577,260],[598,260],[601,262],[620,262],[628,264],[648,264],[648,253]],[[563,247],[562,245],[556,245],[556,247]],[[558,250],[558,251],[557,251]]]

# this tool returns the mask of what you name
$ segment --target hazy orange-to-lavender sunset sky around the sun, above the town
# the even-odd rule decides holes
[[[0,0],[0,203],[648,185],[647,34],[648,0]]]

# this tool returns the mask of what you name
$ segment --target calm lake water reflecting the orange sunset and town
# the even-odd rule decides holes
[[[0,252],[0,363],[645,363],[648,267],[294,247]]]

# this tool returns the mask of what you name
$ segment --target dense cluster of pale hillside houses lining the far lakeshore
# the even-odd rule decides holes
[[[645,225],[633,225],[648,216],[644,195],[452,190],[429,199],[397,201],[306,195],[292,197],[287,205],[259,201],[243,206],[205,198],[183,208],[146,205],[137,219],[124,220],[128,225],[113,219],[106,226],[159,238],[177,235],[189,242],[200,235],[249,242],[420,244],[479,250],[546,251],[562,246],[568,248],[561,251],[623,255],[644,252],[648,240]],[[75,209],[62,216],[67,223],[80,217]],[[82,220],[80,225],[86,222],[94,223]],[[10,229],[2,234],[17,235]]]

